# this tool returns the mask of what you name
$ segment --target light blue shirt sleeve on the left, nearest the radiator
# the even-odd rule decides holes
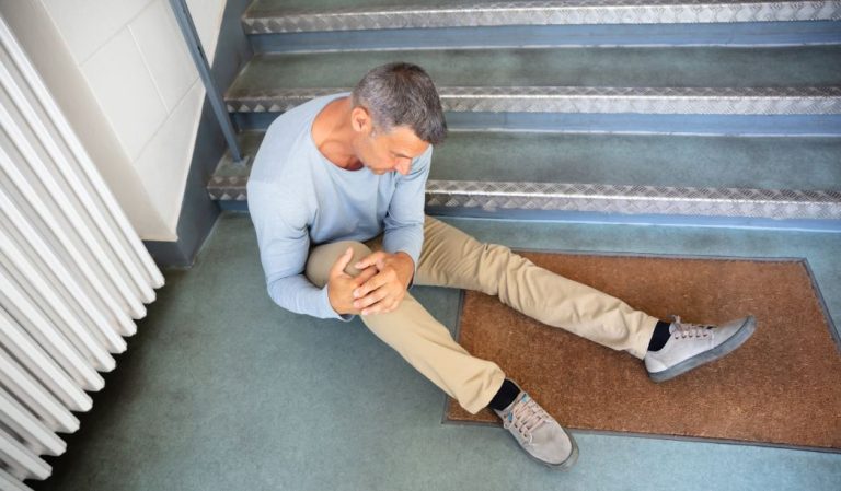
[[[247,184],[249,212],[257,233],[257,245],[268,296],[279,306],[297,314],[349,320],[330,304],[327,287],[318,288],[303,274],[310,250],[306,210],[300,201],[270,183]]]

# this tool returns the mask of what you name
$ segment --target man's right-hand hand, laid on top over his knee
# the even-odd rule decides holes
[[[381,314],[398,308],[406,296],[406,289],[415,273],[415,262],[408,254],[402,252],[388,254],[379,250],[354,267],[365,271],[373,267],[378,271],[375,277],[367,279],[353,291],[356,299],[353,306],[361,309],[362,315]]]

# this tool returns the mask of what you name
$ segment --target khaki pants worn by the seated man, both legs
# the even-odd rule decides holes
[[[331,266],[348,246],[353,265],[380,246],[339,242],[313,247],[306,274],[315,285],[327,281]],[[554,327],[642,359],[657,318],[631,308],[596,289],[534,266],[507,247],[482,244],[443,222],[427,217],[415,284],[477,290]],[[361,317],[366,326],[395,349],[461,407],[476,413],[491,402],[505,379],[495,363],[472,356],[411,295],[394,312]]]

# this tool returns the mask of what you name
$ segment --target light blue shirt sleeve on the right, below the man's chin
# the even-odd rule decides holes
[[[412,164],[412,171],[398,179],[383,220],[383,250],[408,254],[415,262],[415,272],[424,245],[424,196],[431,161],[433,145],[429,145]]]

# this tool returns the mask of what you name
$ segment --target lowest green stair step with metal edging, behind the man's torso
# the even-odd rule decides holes
[[[243,133],[244,151],[261,138]],[[839,150],[838,138],[453,132],[436,148],[427,211],[838,231]],[[247,172],[223,161],[208,192],[244,202]]]

